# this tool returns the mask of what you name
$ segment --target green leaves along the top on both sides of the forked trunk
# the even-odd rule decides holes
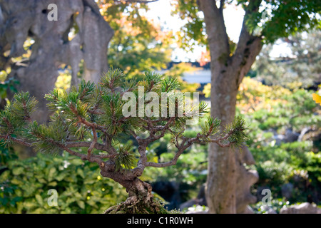
[[[225,4],[242,6],[248,31],[255,36],[261,36],[266,43],[273,43],[277,38],[286,38],[296,32],[320,28],[318,16],[321,6],[317,1],[300,1],[298,4],[296,0],[238,0]],[[173,14],[186,21],[177,34],[181,46],[190,51],[195,44],[208,45],[205,23],[197,1],[176,0],[173,5]],[[233,53],[233,50],[230,53]]]

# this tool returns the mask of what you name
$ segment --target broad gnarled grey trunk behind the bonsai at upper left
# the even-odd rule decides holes
[[[48,20],[49,4],[57,5],[58,21]],[[78,83],[77,73],[82,59],[86,81],[97,83],[101,73],[108,69],[107,46],[113,29],[99,13],[95,1],[0,1],[0,15],[0,56],[7,62],[0,66],[9,66],[11,58],[26,52],[23,45],[28,37],[35,41],[30,58],[11,64],[8,78],[16,78],[20,81],[18,90],[29,91],[39,100],[34,115],[38,122],[49,119],[44,95],[54,89],[62,63],[71,67],[72,84]],[[78,33],[69,41],[71,28]],[[5,58],[6,51],[10,53]]]

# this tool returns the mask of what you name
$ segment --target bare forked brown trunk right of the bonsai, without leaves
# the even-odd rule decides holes
[[[262,39],[252,36],[243,22],[238,46],[231,56],[223,5],[218,7],[213,0],[200,0],[199,6],[204,13],[210,48],[211,115],[225,126],[234,119],[238,87],[260,53]],[[210,213],[245,213],[248,204],[256,201],[250,194],[250,186],[258,180],[258,175],[246,170],[243,163],[254,163],[249,150],[239,155],[237,150],[210,145],[205,189]]]

